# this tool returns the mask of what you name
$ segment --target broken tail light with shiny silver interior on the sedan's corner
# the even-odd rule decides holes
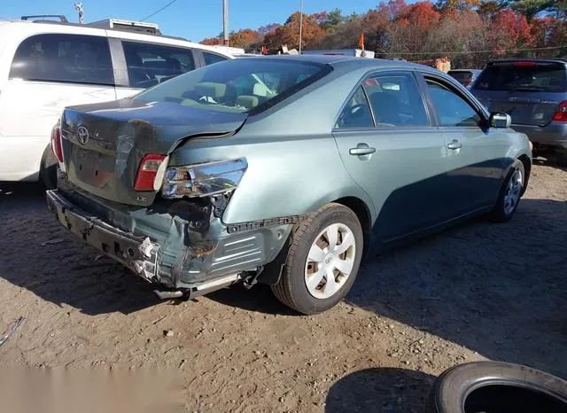
[[[167,168],[161,194],[163,198],[198,198],[237,189],[248,163],[244,158]]]

